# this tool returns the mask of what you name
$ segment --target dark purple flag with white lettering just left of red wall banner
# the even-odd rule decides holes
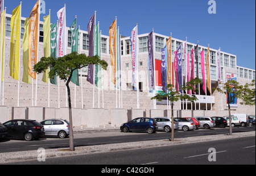
[[[153,31],[148,34],[148,87],[150,89],[155,89],[154,83],[154,49],[153,49]]]

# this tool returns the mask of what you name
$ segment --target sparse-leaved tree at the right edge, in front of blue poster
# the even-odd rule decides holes
[[[252,87],[254,86],[254,88]],[[230,112],[230,104],[232,103],[232,99],[239,98],[243,102],[241,104],[255,106],[255,80],[252,83],[246,83],[245,86],[240,85],[234,79],[229,79],[224,83],[223,89],[219,87],[216,88],[218,92],[221,94],[226,94],[227,96],[227,104],[229,111],[229,135],[232,135],[232,123],[231,123],[231,112]]]

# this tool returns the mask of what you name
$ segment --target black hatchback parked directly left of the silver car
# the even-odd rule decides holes
[[[9,120],[3,125],[8,130],[7,137],[23,138],[26,141],[31,141],[44,136],[44,126],[36,120]]]

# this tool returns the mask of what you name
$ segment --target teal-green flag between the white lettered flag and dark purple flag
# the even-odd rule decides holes
[[[71,53],[72,52],[77,52],[77,47],[78,47],[78,35],[79,35],[79,31],[76,28],[77,24],[76,24],[76,19],[73,21],[73,23],[71,24],[70,31],[71,31]],[[72,73],[72,77],[71,77],[71,81],[73,83],[75,83],[77,86],[80,86],[79,83],[79,70],[76,69],[73,71]]]

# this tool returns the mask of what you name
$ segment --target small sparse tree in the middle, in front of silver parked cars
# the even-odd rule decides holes
[[[168,93],[166,93],[165,91],[162,91],[162,92],[156,94],[155,97],[152,97],[151,99],[157,99],[159,101],[162,101],[162,99],[168,99],[171,102],[177,102],[178,100],[189,100],[194,103],[195,100],[197,100],[195,95],[181,94],[180,91],[182,91],[182,92],[184,92],[186,90],[196,91],[197,88],[195,88],[195,86],[193,86],[193,85],[197,85],[200,82],[201,82],[200,79],[196,77],[195,79],[191,79],[189,82],[185,83],[185,85],[181,85],[179,87],[179,90],[176,90],[174,85],[168,84],[167,85]],[[172,109],[171,141],[174,141],[174,103],[172,103],[171,109]]]

